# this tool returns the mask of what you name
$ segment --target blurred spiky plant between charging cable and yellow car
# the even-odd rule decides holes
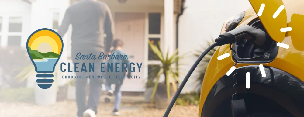
[[[198,58],[207,49],[207,47],[211,46],[213,43],[215,43],[214,40],[207,41],[207,46],[202,47],[202,49],[196,50],[196,53],[194,54],[194,56]],[[201,60],[200,64],[197,67],[199,74],[196,76],[197,84],[195,86],[195,89],[197,89],[199,92],[202,88],[202,83],[204,80],[206,68],[207,68],[213,54],[215,53],[216,49],[217,49],[217,46],[215,48],[213,48],[212,50],[210,50],[209,53],[207,53],[207,55]]]

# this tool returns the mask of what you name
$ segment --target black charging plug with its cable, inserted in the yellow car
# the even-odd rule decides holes
[[[213,43],[211,46],[209,46],[200,56],[199,58],[195,61],[193,66],[190,68],[188,73],[186,74],[184,80],[181,82],[181,85],[179,86],[178,90],[176,91],[173,99],[171,100],[165,114],[163,117],[168,117],[174,103],[176,102],[178,96],[181,93],[181,90],[184,88],[186,82],[188,81],[189,77],[195,70],[195,68],[198,66],[200,61],[206,56],[206,54],[212,50],[216,46],[222,46],[225,44],[232,44],[235,42],[238,42],[239,40],[242,39],[247,39],[250,42],[252,42],[254,45],[258,47],[262,47],[266,41],[266,39],[269,38],[268,34],[266,33],[265,30],[262,30],[260,28],[257,28],[255,26],[251,25],[245,25],[242,27],[239,27],[237,29],[233,29],[229,32],[223,33],[219,35],[218,38],[215,39],[215,43]]]

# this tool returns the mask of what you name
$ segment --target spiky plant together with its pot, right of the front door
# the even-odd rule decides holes
[[[178,50],[169,56],[169,52],[163,55],[160,48],[149,41],[151,50],[155,53],[157,59],[161,61],[161,65],[158,68],[152,68],[152,74],[155,78],[148,81],[148,85],[153,86],[153,92],[151,95],[151,103],[155,105],[156,108],[167,108],[174,93],[177,91],[177,83],[181,83],[179,80],[179,71],[177,67],[173,67],[178,61],[184,56],[178,56]],[[164,81],[159,83],[160,76],[164,75]]]

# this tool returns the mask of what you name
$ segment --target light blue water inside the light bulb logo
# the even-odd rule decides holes
[[[34,61],[34,63],[36,64],[37,71],[53,71],[56,61],[57,58],[44,58],[44,61]]]

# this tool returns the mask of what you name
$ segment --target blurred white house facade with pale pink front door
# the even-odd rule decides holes
[[[152,57],[149,40],[160,42],[158,46],[164,52],[169,50],[173,53],[178,47],[181,54],[191,53],[199,49],[199,45],[204,45],[210,34],[213,37],[218,35],[226,19],[244,11],[250,5],[248,1],[243,0],[186,0],[187,9],[179,19],[177,41],[176,20],[181,13],[182,0],[100,1],[110,7],[115,21],[114,37],[124,41],[124,50],[129,56],[133,56],[130,61],[143,63],[141,72],[134,73],[140,75],[140,79],[125,80],[122,86],[122,91],[132,92],[144,91],[149,71],[153,66],[160,65],[160,62]],[[56,31],[65,10],[74,2],[77,0],[0,0],[0,47],[20,46],[26,49],[26,40],[33,31],[40,28]],[[64,51],[59,63],[72,62],[74,55],[71,55],[71,28],[63,40]],[[186,58],[185,61],[189,65],[184,69],[189,69],[194,60],[194,57]],[[62,79],[60,75],[73,73],[59,74],[58,84],[63,85],[68,80]],[[29,82],[28,85],[33,86],[33,83]],[[193,86],[189,84],[187,83],[186,87],[191,90]]]

